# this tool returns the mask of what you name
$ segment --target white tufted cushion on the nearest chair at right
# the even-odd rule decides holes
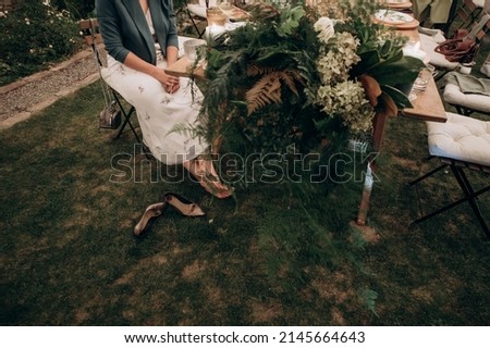
[[[427,122],[429,153],[490,165],[490,122],[448,112],[448,122]]]

